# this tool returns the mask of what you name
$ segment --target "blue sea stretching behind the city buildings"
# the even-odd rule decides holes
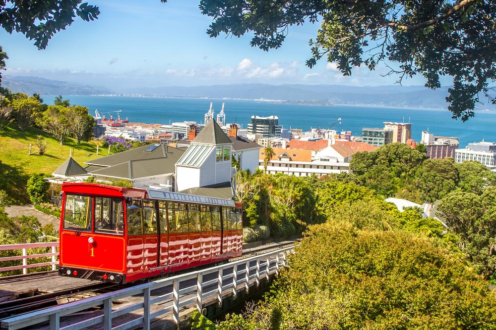
[[[46,103],[53,102],[55,96],[42,96]],[[219,113],[222,103],[225,104],[226,122],[237,122],[247,127],[252,115],[279,117],[279,123],[284,128],[327,128],[337,118],[332,129],[352,131],[353,135],[362,135],[362,127],[383,127],[382,122],[412,123],[412,138],[419,141],[422,131],[429,130],[438,136],[455,136],[460,139],[460,146],[465,147],[473,141],[496,142],[496,113],[476,112],[474,118],[463,123],[451,119],[448,110],[426,110],[409,108],[387,108],[367,106],[314,106],[280,104],[266,101],[237,100],[237,99],[206,99],[206,98],[162,98],[162,97],[131,97],[131,96],[67,96],[71,104],[80,104],[89,108],[90,114],[95,109],[109,117],[109,112],[122,110],[121,117],[129,118],[131,122],[147,124],[170,122],[196,121],[203,122],[204,114],[213,102],[215,114]],[[112,113],[117,117],[117,113]]]

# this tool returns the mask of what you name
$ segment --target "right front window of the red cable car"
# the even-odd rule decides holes
[[[95,233],[124,234],[122,199],[95,197]]]

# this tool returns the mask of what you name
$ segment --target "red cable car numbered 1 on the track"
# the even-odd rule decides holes
[[[90,183],[62,194],[61,276],[129,283],[242,254],[233,200]]]

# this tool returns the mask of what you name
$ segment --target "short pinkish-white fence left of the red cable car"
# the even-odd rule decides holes
[[[28,254],[28,249],[40,248],[40,247],[50,247],[52,252]],[[57,247],[59,247],[59,242],[0,245],[0,251],[19,251],[18,253],[20,254],[10,257],[1,257],[0,265],[2,262],[5,261],[22,260],[22,265],[0,267],[0,273],[22,269],[22,274],[27,274],[28,268],[42,267],[42,266],[52,266],[52,270],[55,271],[56,266],[59,264],[59,261],[57,260],[57,257],[59,256],[59,252],[57,252]],[[42,258],[42,257],[52,257],[52,261],[28,265],[28,259]]]

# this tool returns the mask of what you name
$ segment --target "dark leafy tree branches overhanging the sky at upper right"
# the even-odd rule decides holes
[[[495,1],[200,0],[200,9],[213,19],[210,37],[253,32],[251,46],[263,50],[281,47],[289,26],[321,18],[310,40],[310,68],[324,56],[343,75],[383,64],[398,83],[421,74],[431,89],[449,75],[453,86],[446,101],[452,117],[462,121],[474,116],[480,94],[496,102],[488,84],[496,79]]]

